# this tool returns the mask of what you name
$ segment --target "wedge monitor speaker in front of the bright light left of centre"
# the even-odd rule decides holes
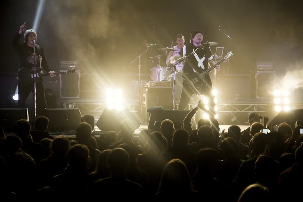
[[[129,119],[135,129],[140,127],[137,120],[125,108],[122,110],[105,108],[96,125],[103,132],[119,132],[120,124],[125,119]]]

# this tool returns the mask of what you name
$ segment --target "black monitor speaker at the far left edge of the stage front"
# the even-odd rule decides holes
[[[29,121],[27,108],[0,109],[0,127],[4,129],[4,132],[13,132],[14,124],[20,119]]]

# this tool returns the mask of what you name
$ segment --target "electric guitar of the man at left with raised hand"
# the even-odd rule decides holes
[[[43,73],[41,68],[36,68],[37,72],[37,82],[41,81],[42,77],[44,76],[50,76],[51,73]],[[70,68],[67,71],[62,71],[62,72],[55,72],[55,75],[58,74],[74,74],[76,70],[74,68]],[[27,69],[27,68],[20,68],[17,77],[19,79],[19,82],[21,85],[29,85],[30,83],[34,82],[34,70],[32,69]]]

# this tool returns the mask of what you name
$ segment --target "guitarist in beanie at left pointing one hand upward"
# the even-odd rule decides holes
[[[33,68],[33,65],[35,65],[36,68],[40,68],[40,60],[39,60],[39,55],[40,55],[42,56],[42,67],[47,72],[50,73],[50,76],[55,76],[55,72],[51,71],[48,67],[48,64],[44,56],[43,48],[35,44],[35,41],[37,41],[37,33],[32,29],[28,29],[26,31],[25,30],[26,30],[26,22],[24,22],[23,25],[20,26],[19,32],[16,34],[16,36],[13,39],[13,46],[19,55],[20,68],[27,68],[31,70]],[[23,33],[24,33],[24,43],[19,44],[19,39]],[[33,48],[34,46],[36,49],[35,60],[34,60],[34,48]],[[46,104],[44,85],[42,80],[37,82],[36,90],[37,90],[36,91],[37,115],[45,115],[45,109],[47,108],[47,104]],[[19,94],[19,99],[17,104],[18,108],[25,107],[25,102],[30,92],[34,92],[34,83],[25,85],[22,84],[20,80],[18,80],[18,94]]]

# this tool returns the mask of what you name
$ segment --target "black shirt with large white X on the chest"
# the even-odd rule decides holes
[[[211,49],[206,52],[205,46],[203,49],[200,48],[198,51],[196,51],[194,54],[191,54],[186,60],[185,65],[183,68],[183,73],[202,73],[203,71],[207,70],[208,64],[206,58],[208,58],[208,61],[213,60]],[[198,47],[194,46],[192,43],[186,45],[186,55],[189,55],[194,50],[196,50]],[[183,56],[183,50],[179,52],[180,56]],[[199,62],[198,62],[199,61]]]

